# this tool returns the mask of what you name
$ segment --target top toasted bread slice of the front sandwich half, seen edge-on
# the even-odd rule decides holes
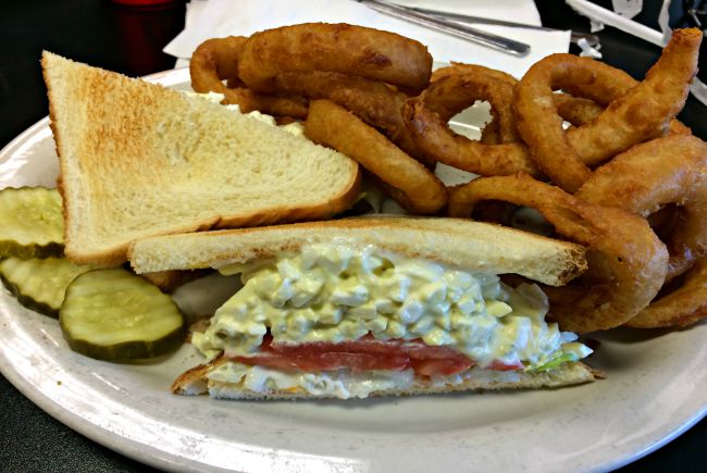
[[[586,270],[578,245],[462,219],[373,216],[144,238],[131,245],[137,273],[220,267],[343,240],[469,271],[520,274],[560,286]]]

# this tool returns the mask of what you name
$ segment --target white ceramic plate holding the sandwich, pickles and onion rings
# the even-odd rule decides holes
[[[186,71],[152,77],[184,85]],[[42,120],[0,153],[0,187],[53,186]],[[324,402],[214,401],[169,393],[200,362],[191,347],[153,363],[69,350],[55,320],[0,292],[0,370],[40,408],[128,457],[168,470],[608,470],[660,447],[707,411],[707,324],[611,331],[591,364],[608,378],[558,390]]]

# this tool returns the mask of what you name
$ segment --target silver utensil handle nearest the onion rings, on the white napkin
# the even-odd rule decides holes
[[[482,32],[454,21],[448,21],[429,13],[414,11],[405,7],[396,5],[384,0],[358,0],[360,3],[389,16],[415,23],[432,29],[446,33],[458,38],[476,42],[508,54],[523,57],[530,52],[530,45],[504,38],[503,36]]]

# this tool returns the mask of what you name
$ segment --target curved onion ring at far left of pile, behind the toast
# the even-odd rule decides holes
[[[243,36],[230,36],[199,45],[189,62],[194,90],[223,94],[224,103],[238,104],[244,113],[258,110],[272,115],[305,119],[307,103],[303,99],[263,96],[238,85],[238,57],[246,40]],[[226,87],[223,79],[228,79],[232,87]]]

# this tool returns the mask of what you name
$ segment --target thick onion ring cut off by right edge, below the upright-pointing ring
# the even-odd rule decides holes
[[[684,211],[671,233],[670,279],[707,256],[707,144],[673,135],[636,145],[596,170],[575,197],[647,217],[668,203]]]

